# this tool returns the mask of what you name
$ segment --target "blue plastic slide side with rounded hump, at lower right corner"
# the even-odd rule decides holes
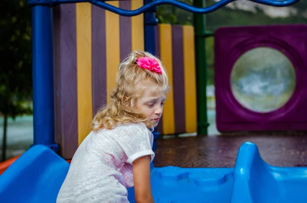
[[[274,167],[255,144],[244,143],[234,167],[231,203],[306,202],[307,167]]]

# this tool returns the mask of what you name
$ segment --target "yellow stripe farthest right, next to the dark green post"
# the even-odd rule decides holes
[[[183,59],[186,132],[197,131],[196,75],[194,53],[194,29],[183,26]]]

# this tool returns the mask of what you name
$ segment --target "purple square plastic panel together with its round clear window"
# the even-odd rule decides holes
[[[307,66],[307,60],[305,60],[306,32],[307,25],[305,24],[224,27],[216,30],[214,34],[214,76],[215,81],[219,81],[215,84],[216,127],[218,131],[306,130],[307,108],[305,106],[307,97],[305,95],[307,89],[305,86],[307,80],[304,79],[307,77],[305,71]],[[249,55],[249,53],[259,48],[274,50],[274,53],[278,53],[279,56],[283,56],[287,60],[278,64],[274,57],[267,54],[268,57],[262,59],[262,63],[255,66],[255,62],[252,60],[256,55]],[[246,101],[251,98],[263,98],[262,103],[266,103],[266,105],[277,103],[278,96],[286,97],[289,99],[286,103],[283,102],[283,105],[278,108],[274,107],[270,111],[262,112],[255,110],[255,108],[250,109],[240,103],[240,100],[243,99],[238,99],[237,94],[233,93],[232,71],[236,69],[240,58],[246,54],[249,55],[245,58],[247,59],[246,69],[243,68],[244,72],[238,70],[240,73],[237,77],[239,82],[234,83],[238,87],[237,89],[242,91],[240,95]],[[278,58],[280,60],[280,57]],[[287,77],[284,77],[280,73],[287,72],[287,61],[288,65],[294,67],[294,70],[289,68],[291,71],[288,71]],[[280,64],[284,66],[281,69]],[[266,67],[266,71],[262,72],[263,67]],[[278,73],[275,74],[276,72]],[[291,77],[292,74],[295,76]],[[266,78],[267,76],[269,77]],[[282,80],[277,79],[278,83],[274,84],[274,80],[276,80],[274,78],[282,78]],[[290,87],[287,88],[287,86]],[[271,91],[274,87],[276,89]],[[282,91],[282,89],[286,89],[286,91]],[[290,98],[287,95],[288,92],[290,92]],[[257,94],[257,97],[253,97],[254,94]]]

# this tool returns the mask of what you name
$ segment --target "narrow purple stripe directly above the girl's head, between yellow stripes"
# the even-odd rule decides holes
[[[119,7],[131,10],[131,1],[120,1]],[[120,33],[120,61],[123,61],[131,52],[131,17],[119,16]]]

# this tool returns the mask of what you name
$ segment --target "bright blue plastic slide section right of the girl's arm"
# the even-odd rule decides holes
[[[255,144],[244,143],[234,168],[153,168],[155,202],[306,202],[307,168],[265,163]],[[134,203],[133,188],[128,199]]]

